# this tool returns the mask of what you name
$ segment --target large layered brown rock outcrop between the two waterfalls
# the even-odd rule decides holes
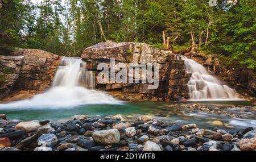
[[[191,74],[185,72],[184,61],[176,60],[176,56],[170,51],[160,51],[144,43],[99,43],[86,48],[81,57],[86,61],[88,70],[92,70],[96,76],[96,88],[106,90],[119,99],[176,101],[189,98],[187,82]],[[141,83],[142,78],[139,80],[140,83],[135,83],[134,80],[132,84],[97,82],[97,75],[100,72],[97,65],[106,63],[110,67],[110,59],[115,59],[116,64],[124,63],[127,67],[129,63],[158,63],[158,89],[148,89],[150,84]]]

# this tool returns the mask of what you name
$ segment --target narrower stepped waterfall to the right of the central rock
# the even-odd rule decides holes
[[[185,70],[192,73],[188,82],[190,99],[238,99],[236,90],[227,85],[221,85],[221,82],[214,76],[211,76],[207,70],[194,60],[181,57],[184,60]]]

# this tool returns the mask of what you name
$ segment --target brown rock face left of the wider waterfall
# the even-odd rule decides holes
[[[39,49],[20,49],[0,56],[0,98],[12,91],[39,93],[52,83],[59,56]]]

